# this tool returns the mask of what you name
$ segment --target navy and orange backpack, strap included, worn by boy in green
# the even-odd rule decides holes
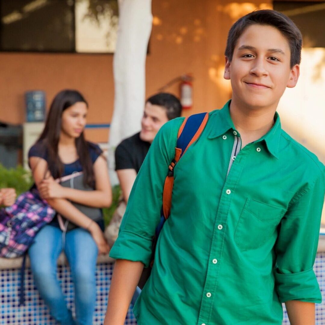
[[[141,274],[138,287],[142,289],[149,279],[151,269],[154,262],[154,255],[158,236],[162,230],[165,221],[170,215],[170,208],[172,205],[172,192],[174,185],[174,168],[180,158],[184,155],[187,149],[200,137],[206,123],[208,122],[209,113],[194,114],[186,118],[181,124],[178,135],[177,144],[175,148],[175,157],[168,167],[168,173],[165,179],[163,192],[162,192],[162,209],[160,222],[156,228],[155,236],[152,243],[152,257],[149,267],[145,267]]]

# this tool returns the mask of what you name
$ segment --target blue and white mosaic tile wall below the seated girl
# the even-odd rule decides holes
[[[107,306],[112,264],[98,264],[96,271],[97,281],[97,305],[94,314],[94,325],[101,325],[104,321]],[[316,325],[325,325],[325,253],[318,253],[314,270],[322,292],[322,304],[316,304]],[[59,280],[66,296],[68,306],[74,312],[73,284],[70,270],[67,266],[59,266]],[[50,317],[48,308],[40,298],[32,279],[31,270],[25,270],[25,306],[18,306],[20,271],[16,269],[1,270],[1,325],[55,325],[56,322]],[[284,305],[283,305],[284,306]],[[289,325],[287,313],[284,311],[283,325]],[[125,325],[136,325],[132,310],[129,309],[125,319]]]

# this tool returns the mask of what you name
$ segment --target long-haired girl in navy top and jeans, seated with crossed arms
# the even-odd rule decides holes
[[[29,151],[29,165],[40,195],[77,227],[63,232],[58,215],[43,227],[29,248],[35,284],[51,315],[64,325],[93,323],[96,303],[95,269],[98,253],[106,254],[103,218],[93,221],[72,202],[93,208],[112,201],[107,162],[98,145],[85,140],[88,104],[75,90],[63,90],[54,98],[40,138]],[[61,186],[55,179],[83,172],[86,191]],[[64,301],[57,279],[57,259],[64,251],[75,288],[76,320]]]

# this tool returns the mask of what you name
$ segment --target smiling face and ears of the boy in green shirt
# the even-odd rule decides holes
[[[299,65],[290,68],[287,39],[273,26],[254,24],[245,29],[226,58],[225,79],[230,79],[233,99],[258,109],[277,107],[286,87],[294,87]]]

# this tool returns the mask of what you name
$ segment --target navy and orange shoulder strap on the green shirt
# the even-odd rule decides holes
[[[169,217],[172,205],[175,165],[187,149],[200,137],[206,123],[208,122],[208,118],[209,113],[191,115],[183,121],[178,130],[175,157],[168,167],[169,170],[162,193],[162,211],[165,220]]]

